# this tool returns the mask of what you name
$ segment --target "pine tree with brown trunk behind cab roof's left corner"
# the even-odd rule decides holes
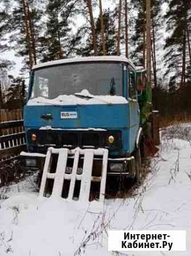
[[[15,0],[9,21],[10,44],[17,56],[24,57],[24,69],[37,64],[37,44],[42,25],[41,1]]]

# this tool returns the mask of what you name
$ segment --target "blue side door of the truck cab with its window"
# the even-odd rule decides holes
[[[138,106],[136,72],[128,65],[128,102],[129,102],[129,150],[133,152],[136,145],[138,127],[140,124],[140,109]]]

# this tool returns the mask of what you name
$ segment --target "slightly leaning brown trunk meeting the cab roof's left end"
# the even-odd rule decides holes
[[[29,33],[29,20],[27,19],[27,5],[25,0],[22,0],[23,6],[23,16],[25,22],[25,33],[26,33],[26,42],[27,42],[27,50],[29,52],[29,68],[33,67],[33,56],[32,56],[32,48],[31,48],[31,41],[30,41],[30,33]]]

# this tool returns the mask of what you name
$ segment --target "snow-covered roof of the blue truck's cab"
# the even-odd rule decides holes
[[[91,56],[91,57],[79,57],[79,58],[73,58],[73,59],[62,59],[62,60],[53,60],[53,61],[48,61],[46,63],[41,63],[33,66],[34,69],[38,68],[45,68],[45,67],[51,67],[54,65],[60,65],[60,64],[67,64],[67,63],[82,63],[82,62],[93,62],[93,61],[116,61],[119,63],[128,63],[132,65],[134,69],[136,69],[135,65],[127,59],[125,56]]]

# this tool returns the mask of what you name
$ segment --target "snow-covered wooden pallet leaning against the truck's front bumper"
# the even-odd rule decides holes
[[[51,173],[51,157],[53,154],[58,154],[57,167],[55,173]],[[100,156],[102,160],[101,174],[100,176],[93,177],[93,161],[94,156]],[[71,173],[66,172],[68,158],[73,158],[73,167]],[[78,174],[79,158],[83,158],[82,173]],[[74,197],[75,182],[81,181],[79,188],[78,201],[88,201],[90,197],[91,181],[100,182],[100,193],[98,196],[99,201],[104,201],[105,198],[105,186],[106,186],[106,172],[108,168],[108,149],[54,149],[49,148],[46,154],[45,165],[43,168],[41,188],[39,191],[39,197],[43,197],[46,194],[46,183],[48,179],[54,180],[53,190],[51,197],[60,198],[64,189],[65,180],[70,181],[69,192],[67,199],[72,201]]]

